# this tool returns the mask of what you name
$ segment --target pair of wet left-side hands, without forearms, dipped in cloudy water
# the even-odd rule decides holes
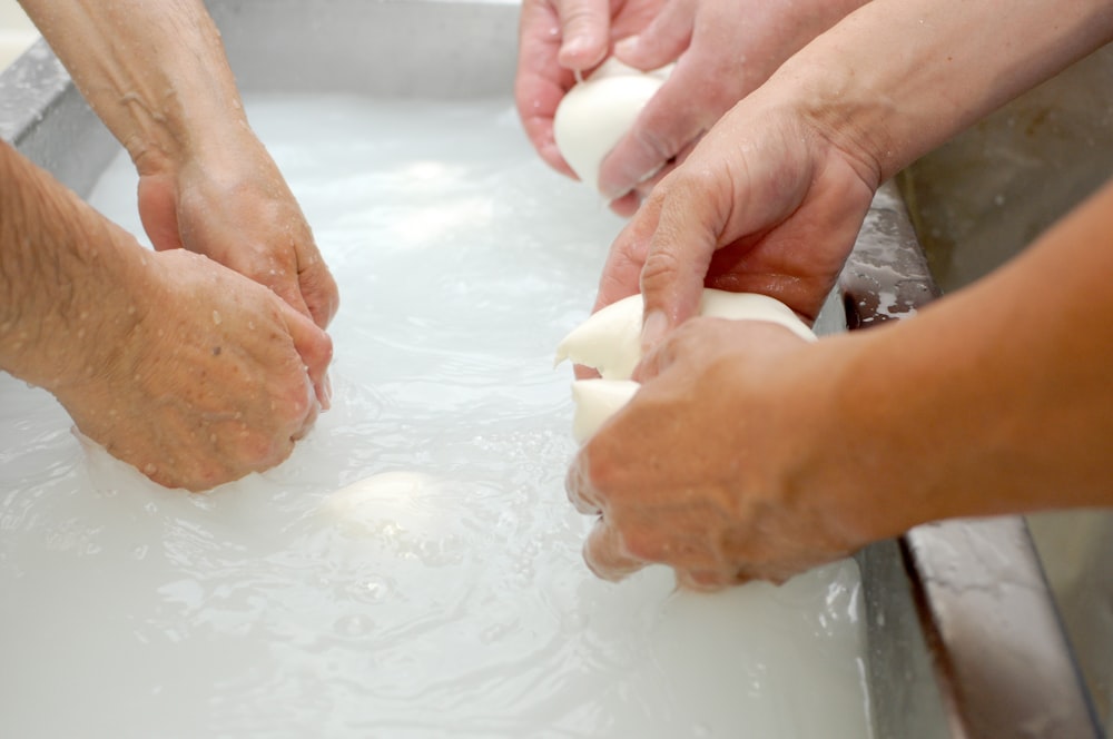
[[[126,289],[129,306],[147,308],[97,382],[60,398],[115,456],[190,490],[278,464],[328,407],[324,329],[338,306],[263,145],[245,131],[215,154],[173,171],[140,166],[156,253]]]

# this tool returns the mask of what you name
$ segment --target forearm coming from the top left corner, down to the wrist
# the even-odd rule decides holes
[[[21,0],[140,174],[164,170],[246,118],[200,0]]]

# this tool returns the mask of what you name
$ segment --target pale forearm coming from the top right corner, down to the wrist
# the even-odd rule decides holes
[[[1107,0],[873,0],[774,89],[884,180],[1111,39]]]

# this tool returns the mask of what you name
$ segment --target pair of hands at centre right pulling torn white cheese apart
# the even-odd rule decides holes
[[[758,144],[760,142],[760,146]],[[600,519],[584,556],[607,579],[648,563],[689,588],[780,581],[866,543],[839,502],[801,496],[815,345],[692,317],[699,290],[764,293],[814,321],[879,179],[798,108],[759,91],[660,181],[614,242],[597,307],[646,304],[642,390],[580,450],[569,496]],[[786,455],[790,452],[792,455]],[[794,456],[796,454],[800,457]]]

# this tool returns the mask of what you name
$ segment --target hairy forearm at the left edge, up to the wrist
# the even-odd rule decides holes
[[[0,142],[0,368],[57,392],[106,362],[137,316],[114,309],[137,255],[47,173]],[[136,249],[139,247],[136,246]],[[116,313],[105,321],[105,312]],[[93,347],[78,356],[77,346]]]

